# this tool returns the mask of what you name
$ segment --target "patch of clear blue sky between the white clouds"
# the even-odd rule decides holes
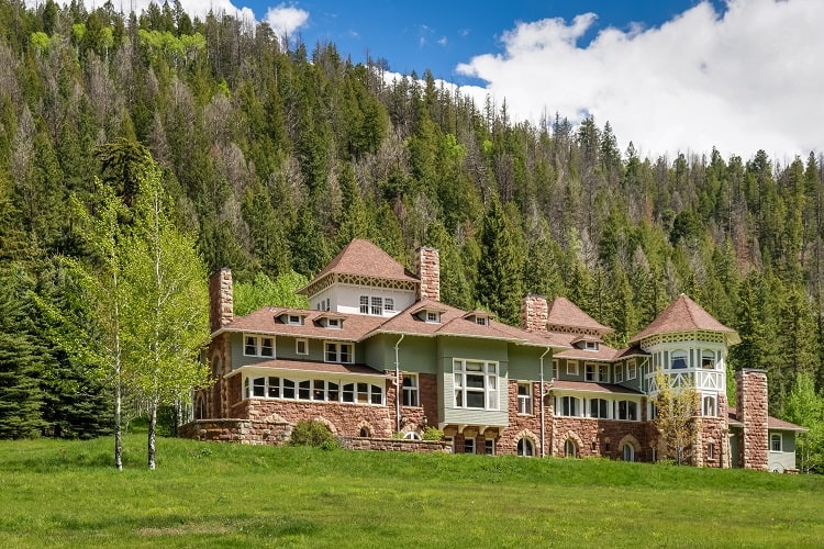
[[[456,71],[480,54],[502,53],[501,36],[517,22],[563,18],[593,12],[594,24],[579,40],[586,46],[598,32],[614,26],[631,30],[641,25],[658,26],[699,3],[697,0],[511,0],[487,2],[349,1],[333,0],[272,3],[268,0],[236,0],[248,7],[257,20],[266,19],[275,8],[299,10],[308,14],[303,24],[291,32],[300,35],[309,49],[320,42],[336,44],[343,55],[363,61],[367,52],[389,61],[397,72],[423,75],[432,70],[435,78],[458,85],[482,85],[482,80]],[[715,2],[723,9],[723,2]],[[283,18],[288,21],[288,16]],[[294,24],[294,20],[291,24]]]

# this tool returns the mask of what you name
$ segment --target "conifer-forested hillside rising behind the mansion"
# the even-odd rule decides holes
[[[739,332],[733,367],[768,371],[770,412],[801,419],[797,380],[802,404],[824,383],[821,157],[644,158],[608,121],[515,122],[428,72],[389,81],[390,64],[177,2],[121,15],[0,0],[0,383],[30,388],[44,433],[100,428],[64,393],[104,406],[104,391],[37,303],[70,307],[56,258],[87,257],[69,199],[108,184],[133,200],[112,146],[130,142],[165,168],[210,270],[311,277],[353,237],[410,265],[425,244],[444,301],[514,324],[523,294],[565,295],[615,346],[686,292]],[[66,407],[78,419],[62,430]]]

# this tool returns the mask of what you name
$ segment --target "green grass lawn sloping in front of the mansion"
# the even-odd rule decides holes
[[[824,478],[145,436],[0,441],[0,547],[816,547]]]

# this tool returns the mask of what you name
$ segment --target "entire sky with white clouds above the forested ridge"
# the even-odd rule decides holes
[[[505,101],[515,121],[592,115],[642,156],[824,152],[824,0],[181,3],[266,21],[310,51],[332,42],[355,63],[368,52],[390,80],[428,68],[477,104]]]

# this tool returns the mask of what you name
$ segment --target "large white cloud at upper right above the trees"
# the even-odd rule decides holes
[[[488,82],[464,93],[505,98],[520,120],[591,113],[610,121],[622,149],[633,141],[653,156],[716,146],[783,160],[824,148],[824,2],[730,0],[723,15],[700,3],[659,27],[606,29],[579,47],[594,21],[520,23],[502,55],[458,66]]]

